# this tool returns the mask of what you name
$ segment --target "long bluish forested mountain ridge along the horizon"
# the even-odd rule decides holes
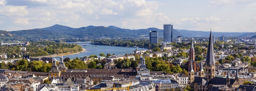
[[[163,29],[150,27],[147,29],[122,29],[116,26],[86,26],[72,28],[56,24],[54,26],[41,29],[28,29],[20,31],[0,31],[1,40],[21,40],[21,39],[59,39],[59,38],[76,38],[76,39],[100,39],[100,38],[119,38],[135,39],[149,38],[149,31],[157,31],[158,37],[163,38]],[[208,37],[210,31],[190,31],[183,29],[173,29],[173,38],[182,37]],[[246,36],[251,37],[255,33],[236,33],[236,32],[214,32],[212,35],[219,36]],[[5,36],[4,36],[5,35]],[[11,35],[11,36],[10,36]]]

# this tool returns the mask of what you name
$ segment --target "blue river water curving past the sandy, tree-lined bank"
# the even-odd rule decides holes
[[[102,46],[102,45],[91,45],[89,43],[74,43],[81,45],[83,48],[86,49],[85,52],[74,54],[74,55],[67,55],[63,56],[63,58],[69,57],[70,59],[74,59],[76,57],[85,57],[90,55],[97,55],[99,57],[100,53],[104,53],[107,55],[107,53],[110,53],[111,55],[114,53],[115,55],[124,55],[125,53],[130,54],[134,50],[147,50],[145,48],[132,48],[132,47],[118,47],[118,46]],[[83,46],[87,45],[87,46]]]

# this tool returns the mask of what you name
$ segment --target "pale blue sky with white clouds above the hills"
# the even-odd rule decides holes
[[[0,30],[79,28],[256,32],[255,0],[0,0]]]

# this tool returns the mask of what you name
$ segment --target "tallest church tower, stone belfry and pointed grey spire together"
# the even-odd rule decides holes
[[[211,38],[211,32],[210,32],[210,38],[208,43],[208,49],[206,54],[206,62],[205,62],[205,78],[210,81],[215,76],[215,59],[214,59],[214,50],[213,50],[213,41]]]

